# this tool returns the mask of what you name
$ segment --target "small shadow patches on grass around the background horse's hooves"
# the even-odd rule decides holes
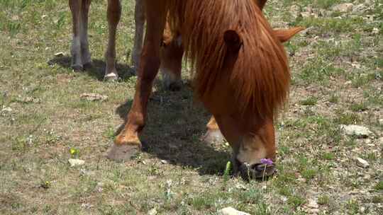
[[[69,56],[55,57],[51,59],[49,65],[60,65],[63,68],[71,68],[71,58]],[[84,70],[89,76],[99,81],[104,79],[106,63],[101,59],[92,59],[91,66]],[[116,64],[116,69],[118,71],[118,76],[121,79],[128,79],[134,75],[134,70],[126,64]]]

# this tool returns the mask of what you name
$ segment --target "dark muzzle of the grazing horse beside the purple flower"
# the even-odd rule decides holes
[[[244,180],[267,178],[276,172],[276,168],[273,164],[255,163],[249,165],[243,163],[240,165],[239,173]]]

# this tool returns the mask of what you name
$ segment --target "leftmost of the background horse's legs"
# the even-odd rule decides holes
[[[72,55],[72,69],[75,71],[82,70],[81,59],[81,42],[80,42],[80,13],[82,7],[82,1],[70,0],[70,11],[72,12],[72,45],[70,53]]]

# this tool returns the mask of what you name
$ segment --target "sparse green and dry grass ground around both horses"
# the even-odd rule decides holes
[[[194,103],[188,85],[169,92],[157,81],[142,134],[145,151],[127,163],[105,158],[137,80],[127,72],[133,1],[121,1],[122,79],[105,83],[106,1],[91,5],[94,68],[77,73],[70,69],[67,2],[0,0],[0,214],[218,214],[223,207],[308,214],[311,199],[328,214],[381,214],[383,8],[376,1],[362,12],[332,11],[344,2],[268,1],[273,26],[309,30],[285,45],[292,88],[276,122],[279,172],[244,182],[226,166],[229,147],[199,140],[209,113]],[[292,6],[310,7],[314,16],[294,18]],[[183,78],[189,79],[187,69]],[[82,93],[109,98],[88,102]],[[375,136],[365,144],[345,136],[340,124],[360,124]],[[355,157],[370,168],[355,165]],[[70,167],[70,158],[85,164]]]

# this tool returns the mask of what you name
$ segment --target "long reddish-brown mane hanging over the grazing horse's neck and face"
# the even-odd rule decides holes
[[[209,99],[225,68],[223,35],[235,30],[243,42],[230,75],[238,108],[258,117],[273,117],[287,99],[289,66],[284,47],[254,0],[168,0],[169,21],[179,30],[187,57],[196,69],[194,87]]]

